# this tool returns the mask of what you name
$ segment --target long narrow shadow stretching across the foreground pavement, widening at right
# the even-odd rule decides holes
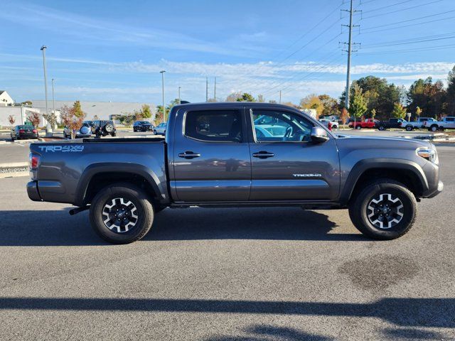
[[[0,310],[144,311],[380,318],[403,327],[455,328],[455,298],[382,298],[373,303],[159,298],[0,298]],[[267,330],[262,330],[267,332]],[[399,333],[390,331],[390,335]],[[421,333],[422,335],[422,333]]]

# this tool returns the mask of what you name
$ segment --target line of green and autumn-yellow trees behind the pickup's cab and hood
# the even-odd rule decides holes
[[[235,92],[226,98],[227,102],[265,102],[262,94],[257,98],[248,92]],[[276,103],[276,101],[269,101]],[[432,77],[419,79],[409,89],[387,82],[385,78],[366,76],[352,82],[349,97],[349,112],[346,112],[346,91],[336,99],[328,94],[309,94],[299,104],[284,102],[299,109],[315,109],[319,117],[336,115],[343,121],[350,117],[388,119],[412,117],[455,116],[455,66],[447,76],[447,87],[441,80]]]

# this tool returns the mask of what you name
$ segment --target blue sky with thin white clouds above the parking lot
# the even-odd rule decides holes
[[[16,102],[161,103],[232,92],[299,103],[346,86],[348,0],[1,0],[0,90]],[[454,0],[354,0],[351,80],[446,80],[455,65]],[[358,25],[358,26],[357,26]]]

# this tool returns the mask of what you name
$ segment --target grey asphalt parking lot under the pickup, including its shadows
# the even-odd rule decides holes
[[[437,148],[444,192],[390,242],[346,210],[195,207],[114,246],[0,179],[0,340],[453,340],[455,144]]]

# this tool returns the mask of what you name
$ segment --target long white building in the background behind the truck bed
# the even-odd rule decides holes
[[[45,101],[40,99],[35,99],[31,101],[33,103],[33,107],[36,107],[41,110],[41,112],[45,112]],[[58,112],[60,112],[60,108],[64,105],[68,107],[73,107],[75,101],[55,101],[55,112],[58,116]],[[115,119],[115,117],[119,117],[124,114],[130,114],[134,112],[134,110],[140,110],[144,103],[132,103],[132,102],[85,102],[80,101],[80,107],[83,112],[87,114],[85,119],[93,120],[93,119]],[[156,114],[156,105],[153,103],[145,103],[149,104],[150,111],[151,111],[151,119],[155,118]],[[53,102],[50,100],[48,101],[48,110],[52,112],[53,110]],[[117,121],[117,123],[119,123]]]

